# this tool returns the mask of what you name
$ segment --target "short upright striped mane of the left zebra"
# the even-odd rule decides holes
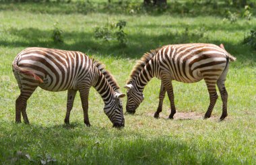
[[[105,65],[102,64],[102,62],[99,62],[94,59],[93,59],[93,62],[94,62],[94,65],[98,68],[98,70],[100,70],[100,72],[104,75],[106,80],[108,80],[108,83],[114,89],[114,91],[118,91],[120,87],[119,85],[117,85],[117,80],[115,80],[112,74],[110,74],[110,72],[108,72],[108,70],[105,69]]]

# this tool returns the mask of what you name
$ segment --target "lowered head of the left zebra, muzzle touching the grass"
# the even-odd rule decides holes
[[[125,127],[123,104],[121,101],[123,97],[125,97],[125,94],[115,92],[114,99],[111,99],[108,104],[105,104],[104,113],[113,123],[113,127]]]

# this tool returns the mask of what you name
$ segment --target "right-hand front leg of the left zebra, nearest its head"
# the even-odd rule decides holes
[[[89,121],[89,116],[88,116],[88,96],[89,96],[89,91],[90,88],[86,87],[83,89],[79,89],[79,93],[80,93],[80,98],[82,101],[82,107],[84,110],[84,123],[86,124],[86,126],[90,127],[90,121]]]

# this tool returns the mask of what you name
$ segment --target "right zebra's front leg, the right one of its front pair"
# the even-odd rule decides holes
[[[172,81],[169,76],[165,76],[162,78],[162,84],[167,91],[168,98],[170,100],[170,115],[168,119],[173,119],[174,114],[176,113],[176,108],[174,104],[174,94],[172,89]]]

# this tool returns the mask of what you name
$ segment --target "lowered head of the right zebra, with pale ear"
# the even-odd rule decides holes
[[[125,88],[127,89],[126,111],[133,114],[143,101],[144,95],[142,91],[133,88],[132,84],[125,85]]]

